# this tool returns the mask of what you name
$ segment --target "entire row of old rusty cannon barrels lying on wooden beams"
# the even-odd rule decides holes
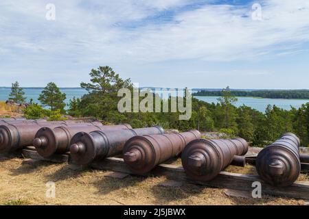
[[[258,154],[256,169],[263,181],[275,186],[291,185],[299,177],[299,138],[285,133]],[[214,179],[229,165],[244,166],[249,145],[242,138],[203,139],[197,130],[165,133],[162,127],[132,129],[128,124],[102,125],[99,121],[0,119],[0,153],[10,153],[34,145],[39,155],[51,157],[70,153],[80,165],[122,155],[137,175],[150,172],[158,164],[181,155],[186,174],[197,181]]]

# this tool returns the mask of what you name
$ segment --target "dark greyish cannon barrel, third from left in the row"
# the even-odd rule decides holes
[[[71,140],[71,159],[76,164],[90,164],[96,159],[120,155],[126,141],[134,136],[163,133],[162,127],[80,132]]]

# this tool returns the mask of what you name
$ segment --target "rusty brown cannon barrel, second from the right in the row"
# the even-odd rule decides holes
[[[198,181],[209,181],[230,164],[244,166],[244,155],[248,148],[248,143],[242,138],[198,139],[185,146],[181,162],[189,177]]]

